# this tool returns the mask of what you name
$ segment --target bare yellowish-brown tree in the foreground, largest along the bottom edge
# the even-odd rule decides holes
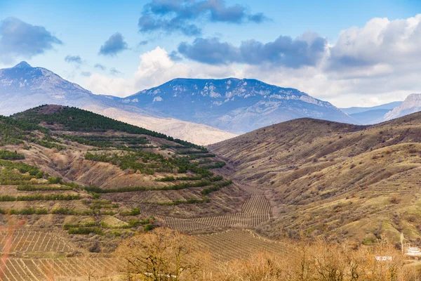
[[[117,254],[126,280],[200,280],[206,257],[192,237],[156,228],[123,242]]]

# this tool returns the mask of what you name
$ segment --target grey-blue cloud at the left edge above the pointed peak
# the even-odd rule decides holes
[[[0,22],[0,60],[5,63],[17,58],[32,58],[61,44],[62,41],[45,27],[18,18],[6,18]]]

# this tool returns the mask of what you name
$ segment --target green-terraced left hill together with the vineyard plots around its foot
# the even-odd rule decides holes
[[[272,216],[266,196],[224,176],[225,164],[203,146],[76,107],[0,116],[0,278],[121,275],[119,244],[159,226],[193,235],[213,262],[285,252],[252,231]]]

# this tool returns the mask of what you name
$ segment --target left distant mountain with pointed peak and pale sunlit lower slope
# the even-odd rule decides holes
[[[11,115],[44,104],[69,105],[91,110],[201,145],[235,136],[202,124],[145,112],[109,96],[94,95],[43,67],[31,67],[22,62],[15,67],[0,70],[1,115]]]

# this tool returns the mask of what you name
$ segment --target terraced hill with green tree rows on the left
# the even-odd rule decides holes
[[[193,143],[60,105],[0,123],[0,211],[37,214],[29,225],[51,223],[62,233],[65,223],[88,223],[107,234],[120,231],[107,228],[114,221],[130,233],[142,225],[131,221],[223,216],[244,201],[215,174],[225,163]]]

